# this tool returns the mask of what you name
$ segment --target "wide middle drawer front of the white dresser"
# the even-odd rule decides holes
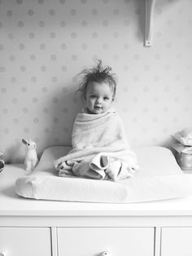
[[[153,256],[153,227],[61,227],[59,256]]]

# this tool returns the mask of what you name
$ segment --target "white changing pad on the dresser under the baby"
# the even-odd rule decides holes
[[[140,170],[130,179],[111,182],[59,177],[53,161],[70,147],[46,148],[32,174],[16,180],[18,195],[43,200],[132,203],[188,196],[192,177],[183,174],[172,152],[163,147],[133,148]]]

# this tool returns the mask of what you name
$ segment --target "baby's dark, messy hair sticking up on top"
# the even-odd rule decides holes
[[[86,89],[90,82],[107,82],[113,90],[113,99],[115,99],[117,78],[116,74],[111,71],[111,67],[103,66],[102,60],[95,60],[93,68],[83,69],[77,75],[80,77],[80,87],[76,92],[81,92],[81,99],[86,98]]]

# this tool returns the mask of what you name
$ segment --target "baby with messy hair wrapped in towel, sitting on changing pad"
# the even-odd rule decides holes
[[[84,104],[74,122],[72,150],[55,161],[59,176],[89,179],[129,178],[138,169],[124,126],[111,104],[116,96],[116,75],[98,60],[80,73]]]

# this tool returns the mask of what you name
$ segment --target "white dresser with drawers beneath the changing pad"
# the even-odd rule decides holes
[[[0,174],[0,255],[189,256],[192,197],[140,204],[37,201],[15,194],[23,166]]]

